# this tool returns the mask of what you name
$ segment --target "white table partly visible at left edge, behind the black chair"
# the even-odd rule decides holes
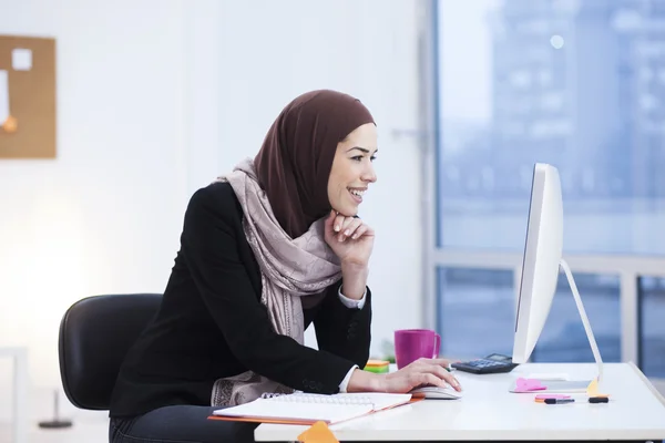
[[[28,441],[28,350],[0,348],[0,358],[13,358],[12,437],[14,443]]]

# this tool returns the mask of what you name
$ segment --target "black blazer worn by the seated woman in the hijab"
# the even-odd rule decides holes
[[[336,393],[354,364],[367,363],[370,290],[362,309],[349,309],[337,295],[340,281],[316,308],[304,310],[319,350],[277,334],[259,301],[260,274],[242,220],[227,183],[192,196],[162,306],[123,362],[110,416],[209,405],[215,380],[247,370],[293,389]]]

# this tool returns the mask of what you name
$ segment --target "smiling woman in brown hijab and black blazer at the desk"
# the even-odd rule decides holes
[[[161,309],[115,384],[111,442],[253,441],[255,424],[206,418],[264,392],[457,384],[446,360],[361,370],[375,233],[357,213],[376,152],[357,99],[314,91],[284,109],[253,161],[193,195]],[[304,346],[310,323],[318,350]]]

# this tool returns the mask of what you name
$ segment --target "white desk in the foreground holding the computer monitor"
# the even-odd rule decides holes
[[[610,403],[590,404],[583,394],[569,404],[544,404],[534,393],[511,393],[509,384],[532,372],[566,372],[591,380],[592,363],[529,363],[505,374],[456,371],[461,400],[424,400],[331,425],[340,441],[463,440],[664,440],[665,400],[632,363],[605,363],[602,391]],[[296,441],[307,426],[262,424],[256,441]]]

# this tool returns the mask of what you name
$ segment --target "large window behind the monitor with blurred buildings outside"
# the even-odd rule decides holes
[[[662,11],[644,7],[634,20],[613,1],[429,4],[437,205],[426,207],[434,220],[426,248],[436,248],[428,285],[443,353],[512,352],[514,276],[540,162],[560,171],[563,254],[603,359],[665,378]],[[593,361],[563,274],[532,359]]]

